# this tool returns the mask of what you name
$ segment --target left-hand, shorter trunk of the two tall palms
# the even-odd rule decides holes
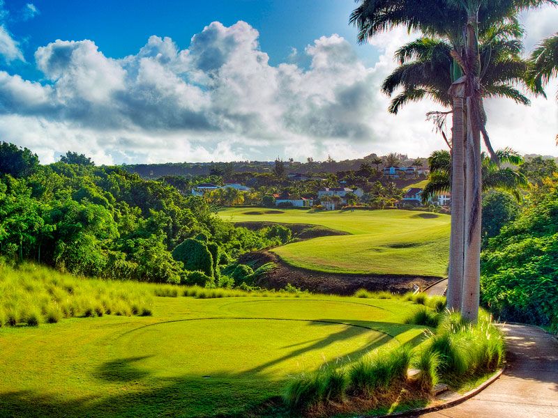
[[[453,98],[451,170],[451,235],[449,241],[448,309],[460,311],[465,246],[465,136],[463,98]]]

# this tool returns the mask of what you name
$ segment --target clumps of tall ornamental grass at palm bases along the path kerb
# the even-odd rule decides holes
[[[476,325],[459,314],[439,316],[441,323],[420,346],[372,350],[352,364],[327,364],[294,378],[285,403],[310,415],[393,412],[409,403],[427,403],[439,381],[458,388],[502,366],[504,340],[488,315],[481,314]],[[417,372],[408,376],[411,367]]]

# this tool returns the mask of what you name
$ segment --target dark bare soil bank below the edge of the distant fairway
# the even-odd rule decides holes
[[[277,268],[261,277],[256,285],[265,288],[284,288],[288,283],[315,293],[352,295],[361,288],[368,291],[390,291],[405,293],[411,291],[413,284],[424,288],[439,281],[441,277],[419,276],[375,276],[361,274],[330,274],[295,268],[282,261],[270,251],[255,251],[243,254],[239,263],[258,268],[265,263],[276,263]]]

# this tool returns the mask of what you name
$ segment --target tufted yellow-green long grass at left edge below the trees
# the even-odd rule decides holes
[[[151,293],[134,283],[80,279],[39,265],[0,263],[0,327],[105,314],[150,316]]]

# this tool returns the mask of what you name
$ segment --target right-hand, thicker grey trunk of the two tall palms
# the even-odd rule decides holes
[[[473,1],[473,3],[476,3]],[[481,57],[478,50],[478,5],[470,5],[467,17],[465,75],[467,97],[467,176],[465,180],[466,240],[463,266],[463,318],[476,323],[481,277]]]

